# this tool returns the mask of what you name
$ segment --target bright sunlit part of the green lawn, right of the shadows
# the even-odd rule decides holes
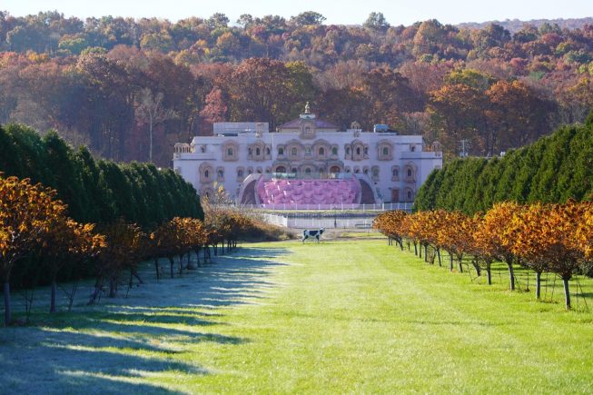
[[[280,290],[232,313],[228,334],[249,342],[197,351],[219,373],[193,390],[591,390],[590,313],[472,284],[385,241],[273,245],[292,252]]]

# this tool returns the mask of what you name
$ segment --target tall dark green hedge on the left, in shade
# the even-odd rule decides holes
[[[203,220],[200,199],[173,170],[147,163],[95,161],[50,132],[42,138],[23,125],[0,126],[0,172],[54,188],[78,222],[118,218],[151,229],[175,216]]]

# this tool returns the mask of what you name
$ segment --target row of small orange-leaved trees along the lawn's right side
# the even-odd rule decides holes
[[[541,274],[558,274],[564,283],[565,301],[570,309],[568,281],[575,273],[588,273],[593,267],[593,203],[569,201],[563,204],[519,205],[500,202],[485,214],[466,215],[444,210],[393,211],[377,216],[373,227],[400,244],[407,239],[414,252],[429,261],[441,262],[448,252],[450,271],[455,262],[463,271],[462,260],[469,258],[478,275],[486,272],[491,284],[492,263],[505,262],[509,268],[509,287],[515,290],[513,266],[519,264],[536,273],[536,298],[540,298]]]

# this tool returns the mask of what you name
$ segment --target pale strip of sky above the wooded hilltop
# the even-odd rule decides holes
[[[234,23],[239,15],[282,15],[316,11],[326,24],[361,25],[381,12],[390,25],[410,25],[436,18],[444,24],[505,19],[556,19],[593,16],[593,0],[3,0],[0,10],[11,15],[57,10],[66,16],[132,16],[177,21],[188,16],[226,14]]]

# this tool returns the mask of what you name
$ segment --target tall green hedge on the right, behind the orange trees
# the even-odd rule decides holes
[[[430,173],[415,210],[485,212],[495,202],[591,200],[593,113],[501,158],[456,159]]]

